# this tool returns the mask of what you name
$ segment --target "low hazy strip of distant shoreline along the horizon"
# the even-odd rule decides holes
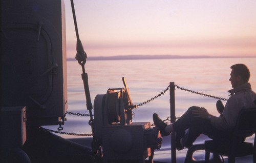
[[[256,56],[180,56],[180,55],[116,55],[116,56],[91,56],[87,60],[134,60],[134,59],[189,59],[189,58],[255,58]],[[68,61],[76,60],[67,58]]]

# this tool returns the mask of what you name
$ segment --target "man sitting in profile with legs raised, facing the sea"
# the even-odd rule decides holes
[[[249,69],[244,64],[236,64],[230,68],[229,81],[233,89],[228,91],[230,97],[221,116],[211,115],[205,108],[193,106],[188,108],[173,124],[167,125],[156,113],[153,114],[154,124],[160,130],[162,136],[176,132],[176,147],[178,150],[191,147],[200,134],[205,134],[221,142],[228,142],[240,110],[256,107],[253,103],[256,94],[251,90],[251,85],[248,83],[250,78]],[[221,108],[221,104],[218,103],[217,106]]]

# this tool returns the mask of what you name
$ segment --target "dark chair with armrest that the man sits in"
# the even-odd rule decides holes
[[[241,136],[251,136],[256,132],[256,108],[243,109],[238,116],[230,144],[218,143],[215,140],[206,140],[205,162],[209,162],[210,153],[228,156],[228,162],[234,162],[235,157],[253,155],[253,162],[256,163],[256,136],[253,144],[246,141],[239,141]]]

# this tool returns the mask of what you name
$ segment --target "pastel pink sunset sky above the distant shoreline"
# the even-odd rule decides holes
[[[70,0],[67,57],[76,54]],[[256,56],[256,0],[74,0],[88,56]]]

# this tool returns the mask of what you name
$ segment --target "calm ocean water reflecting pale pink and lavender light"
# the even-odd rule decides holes
[[[176,85],[186,89],[228,98],[227,90],[231,89],[230,66],[237,63],[248,66],[251,72],[250,83],[252,89],[256,91],[256,58],[88,60],[86,72],[89,76],[92,104],[97,94],[105,94],[109,88],[123,87],[122,77],[126,78],[133,103],[140,104],[161,93],[170,82],[175,82]],[[68,111],[89,113],[86,108],[86,97],[81,79],[81,66],[76,61],[68,61],[67,71]],[[177,117],[181,116],[188,107],[194,105],[205,107],[211,114],[218,115],[215,107],[217,99],[188,93],[180,89],[175,90],[175,99]],[[225,104],[225,101],[223,102]],[[162,119],[170,116],[169,91],[135,109],[133,121],[153,123],[154,112],[158,113]],[[67,115],[63,131],[91,134],[88,120],[89,117]],[[57,130],[57,126],[47,126],[46,128]],[[201,141],[203,140],[201,139]],[[167,148],[170,145],[162,147]]]

